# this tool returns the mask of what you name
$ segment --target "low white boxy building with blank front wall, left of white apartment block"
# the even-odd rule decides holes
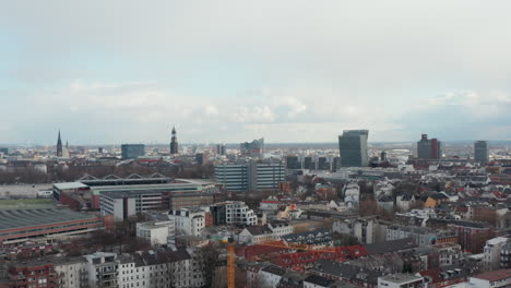
[[[151,245],[162,245],[176,237],[174,220],[136,224],[136,237],[146,239]]]

